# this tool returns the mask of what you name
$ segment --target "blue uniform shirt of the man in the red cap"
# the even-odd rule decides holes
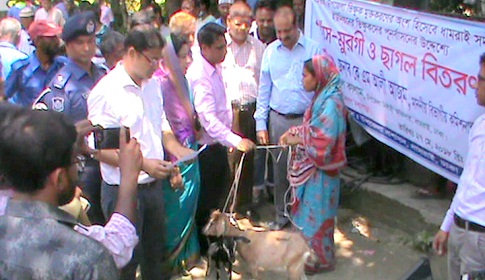
[[[14,62],[10,75],[5,81],[5,95],[11,103],[32,106],[35,99],[66,62],[66,57],[58,56],[46,71],[41,67],[35,52],[27,59]]]

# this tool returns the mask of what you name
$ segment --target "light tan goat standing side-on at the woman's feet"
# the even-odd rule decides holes
[[[249,239],[249,243],[238,242],[236,248],[254,279],[258,278],[259,268],[284,268],[291,280],[299,280],[304,277],[305,261],[312,254],[305,239],[296,232],[241,231],[231,224],[227,215],[217,210],[211,214],[203,232],[208,236],[242,236]]]

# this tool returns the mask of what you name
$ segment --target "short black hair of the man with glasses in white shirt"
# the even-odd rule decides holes
[[[133,47],[135,50],[142,52],[148,49],[165,47],[165,40],[155,28],[135,29],[128,33],[125,39],[125,50]]]

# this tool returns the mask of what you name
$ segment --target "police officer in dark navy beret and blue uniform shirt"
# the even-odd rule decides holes
[[[71,17],[62,30],[68,60],[34,103],[34,109],[51,109],[67,114],[73,122],[88,116],[87,97],[94,85],[106,71],[91,62],[96,52],[96,19],[92,12],[83,12]],[[99,163],[86,160],[81,176],[84,195],[91,202],[88,216],[93,223],[104,224],[101,211],[101,175]]]

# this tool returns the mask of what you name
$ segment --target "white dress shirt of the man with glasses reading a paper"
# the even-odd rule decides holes
[[[88,119],[104,128],[125,126],[131,137],[140,144],[143,158],[163,160],[162,131],[169,131],[160,85],[155,79],[138,86],[125,70],[122,62],[104,76],[88,96]],[[118,167],[101,163],[103,180],[110,185],[120,184]],[[141,171],[138,184],[155,181]]]

